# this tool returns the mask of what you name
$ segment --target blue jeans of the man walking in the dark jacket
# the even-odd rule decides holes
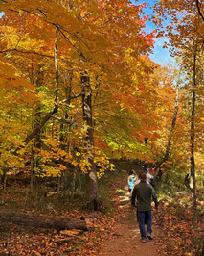
[[[152,218],[151,218],[151,211],[138,211],[138,222],[140,228],[140,234],[142,239],[146,239],[146,235],[151,235],[151,225],[152,225]],[[146,223],[147,223],[147,232],[146,232]]]

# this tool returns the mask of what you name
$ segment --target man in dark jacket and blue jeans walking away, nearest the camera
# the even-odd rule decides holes
[[[158,201],[156,197],[156,193],[153,187],[147,184],[147,175],[146,173],[142,173],[140,175],[141,182],[136,185],[132,192],[131,204],[135,206],[135,197],[137,196],[137,217],[139,222],[140,234],[142,238],[142,242],[146,242],[147,238],[152,240],[152,218],[151,218],[151,197],[156,206],[156,210],[158,210]],[[146,230],[147,224],[147,230]]]

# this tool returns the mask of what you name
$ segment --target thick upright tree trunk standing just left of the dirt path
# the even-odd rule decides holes
[[[92,102],[90,78],[87,72],[81,74],[82,87],[82,114],[83,125],[86,129],[86,136],[84,137],[84,144],[88,153],[86,162],[90,165],[86,174],[86,195],[87,206],[90,210],[96,211],[99,207],[99,194],[97,183],[97,170],[94,163],[94,129],[92,125]]]

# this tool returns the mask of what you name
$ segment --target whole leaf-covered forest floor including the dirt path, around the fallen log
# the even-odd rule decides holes
[[[200,215],[199,229],[194,233],[189,192],[175,190],[174,197],[171,194],[158,198],[158,212],[152,204],[154,239],[142,243],[136,209],[128,198],[126,173],[109,173],[99,181],[103,208],[94,213],[85,210],[81,194],[76,194],[72,201],[68,194],[47,196],[40,183],[34,193],[29,192],[29,184],[22,180],[8,185],[5,203],[0,205],[0,217],[4,212],[13,212],[85,219],[89,226],[88,231],[70,235],[66,230],[0,221],[0,256],[204,255],[204,215]],[[199,201],[198,206],[204,209],[204,201]]]

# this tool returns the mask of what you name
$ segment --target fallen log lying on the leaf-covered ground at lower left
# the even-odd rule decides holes
[[[12,224],[33,226],[36,228],[54,228],[63,229],[79,229],[87,231],[86,221],[75,218],[53,218],[45,216],[30,216],[21,213],[0,212],[1,222],[11,222]]]

